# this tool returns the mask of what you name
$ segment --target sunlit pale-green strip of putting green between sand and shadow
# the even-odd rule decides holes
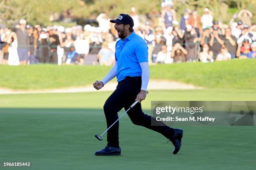
[[[0,108],[101,108],[111,92],[85,92],[61,94],[0,95]],[[143,108],[150,109],[151,100],[224,100],[254,101],[256,90],[150,90]]]

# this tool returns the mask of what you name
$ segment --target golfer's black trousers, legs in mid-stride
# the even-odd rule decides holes
[[[127,110],[133,102],[135,102],[136,96],[140,91],[141,77],[126,77],[124,80],[118,82],[115,91],[108,97],[104,105],[108,127],[118,119],[118,112],[122,108]],[[137,103],[127,114],[133,124],[144,126],[145,128],[161,133],[167,139],[172,139],[174,129],[166,126],[163,122],[156,121],[155,117],[144,114],[141,109],[141,103]],[[151,122],[157,126],[151,126]],[[115,125],[108,130],[108,144],[113,147],[119,147],[118,128],[119,123],[116,122]]]

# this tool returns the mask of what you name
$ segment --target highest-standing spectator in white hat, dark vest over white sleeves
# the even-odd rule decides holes
[[[172,22],[176,20],[176,11],[172,8],[172,3],[167,3],[161,13],[161,18],[164,19],[165,28],[172,27]]]

